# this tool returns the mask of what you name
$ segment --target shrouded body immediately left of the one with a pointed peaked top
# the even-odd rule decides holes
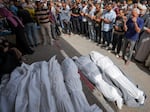
[[[41,103],[40,103],[40,112],[56,112],[56,103],[51,89],[53,85],[51,84],[52,79],[49,77],[51,72],[49,72],[48,63],[42,61],[40,64],[41,72]],[[43,76],[44,75],[44,76]],[[43,97],[46,96],[46,97]]]

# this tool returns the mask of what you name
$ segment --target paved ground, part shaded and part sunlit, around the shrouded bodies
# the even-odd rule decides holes
[[[145,104],[138,108],[130,108],[124,105],[122,110],[117,110],[113,103],[108,103],[114,109],[114,112],[150,112],[150,71],[142,65],[131,62],[126,66],[124,65],[124,61],[117,59],[114,54],[108,53],[106,50],[100,48],[100,46],[97,46],[96,43],[74,34],[71,36],[62,34],[62,38],[55,41],[53,46],[39,45],[34,48],[34,50],[34,54],[24,56],[26,63],[31,64],[36,61],[49,60],[54,55],[56,55],[59,62],[61,62],[66,56],[73,57],[87,55],[93,50],[98,51],[103,55],[107,55],[123,72],[127,74],[130,80],[135,84],[138,84],[139,88],[147,95]],[[86,85],[83,84],[83,88],[90,104],[96,103],[104,111],[107,110],[103,104],[90,93],[90,90]]]

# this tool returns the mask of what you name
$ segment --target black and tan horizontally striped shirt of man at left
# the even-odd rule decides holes
[[[36,9],[35,16],[40,24],[48,23],[49,20],[49,10],[48,9]]]

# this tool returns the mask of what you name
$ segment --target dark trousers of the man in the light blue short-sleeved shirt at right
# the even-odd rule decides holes
[[[111,43],[111,39],[112,39],[112,30],[103,31],[103,44],[107,42],[107,46],[109,46],[109,44]]]

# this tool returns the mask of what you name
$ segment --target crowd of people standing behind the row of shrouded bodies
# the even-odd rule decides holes
[[[0,0],[0,16],[16,35],[17,48],[32,54],[39,44],[53,45],[62,33],[78,34],[128,64],[134,58],[150,67],[150,1]],[[40,28],[41,36],[38,35]]]

